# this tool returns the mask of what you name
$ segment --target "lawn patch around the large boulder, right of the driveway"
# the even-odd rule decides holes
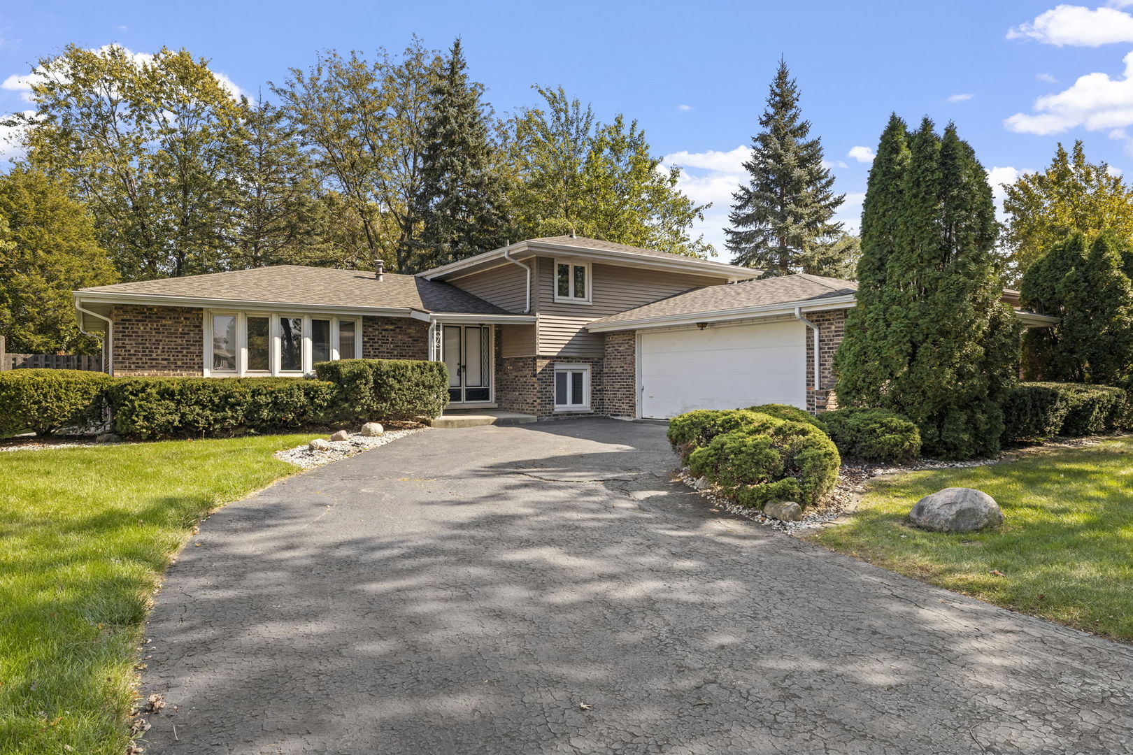
[[[987,492],[1004,523],[943,534],[906,522],[919,498],[949,487]],[[813,540],[989,603],[1133,642],[1133,438],[877,480],[847,524]]]

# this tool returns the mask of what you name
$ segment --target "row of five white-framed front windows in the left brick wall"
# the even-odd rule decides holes
[[[312,375],[315,364],[361,357],[361,318],[206,311],[206,377]]]

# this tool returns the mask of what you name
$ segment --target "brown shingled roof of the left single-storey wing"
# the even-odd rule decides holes
[[[414,275],[331,267],[275,265],[229,273],[137,281],[80,289],[76,297],[92,301],[174,300],[215,306],[240,302],[333,307],[351,310],[404,310],[425,314],[511,315],[449,283]]]

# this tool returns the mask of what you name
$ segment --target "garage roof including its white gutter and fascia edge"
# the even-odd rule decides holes
[[[801,307],[835,309],[853,304],[858,284],[821,275],[799,273],[778,277],[692,289],[653,303],[594,320],[591,331],[623,329],[630,325],[668,325],[690,319],[733,319],[766,316]]]

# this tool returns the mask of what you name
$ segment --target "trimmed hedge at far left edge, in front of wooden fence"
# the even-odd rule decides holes
[[[19,369],[0,372],[0,432],[40,435],[102,421],[104,372]]]

